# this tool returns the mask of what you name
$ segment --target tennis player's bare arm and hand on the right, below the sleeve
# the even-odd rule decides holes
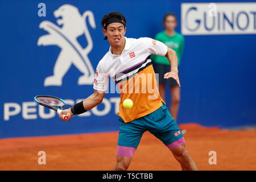
[[[177,55],[176,52],[171,49],[168,48],[167,49],[167,53],[165,55],[169,61],[169,63],[171,64],[171,70],[170,72],[164,74],[164,78],[168,79],[168,78],[174,78],[174,80],[177,81],[177,84],[180,86],[180,80],[179,80],[179,76],[178,76],[178,69],[177,69]]]

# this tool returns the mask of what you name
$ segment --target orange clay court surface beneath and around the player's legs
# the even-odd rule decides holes
[[[256,131],[220,130],[194,123],[186,129],[186,146],[200,170],[256,170]],[[118,131],[0,140],[0,170],[111,170],[115,166]],[[46,152],[46,165],[38,152]],[[210,165],[209,151],[217,152]],[[129,170],[181,170],[160,140],[144,133]]]

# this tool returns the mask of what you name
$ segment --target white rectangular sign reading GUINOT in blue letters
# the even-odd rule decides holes
[[[256,34],[256,3],[182,3],[183,35]]]

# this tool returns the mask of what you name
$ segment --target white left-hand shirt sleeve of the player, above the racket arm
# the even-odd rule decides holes
[[[101,62],[97,65],[95,78],[93,83],[93,89],[99,91],[106,91],[109,86],[109,77],[104,73]]]

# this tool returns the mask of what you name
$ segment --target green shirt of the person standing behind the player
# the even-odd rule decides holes
[[[156,34],[155,40],[159,40],[166,44],[167,47],[173,49],[177,55],[178,65],[180,65],[180,57],[184,47],[184,36],[178,32],[175,32],[174,36],[169,36],[166,32],[162,31]],[[164,56],[151,55],[151,60],[154,61],[154,63],[170,65],[167,57]]]

